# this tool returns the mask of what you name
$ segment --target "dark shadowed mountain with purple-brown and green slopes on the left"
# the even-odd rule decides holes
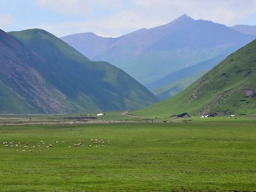
[[[0,50],[0,113],[124,110],[157,101],[126,72],[90,61],[44,30],[1,30]]]

